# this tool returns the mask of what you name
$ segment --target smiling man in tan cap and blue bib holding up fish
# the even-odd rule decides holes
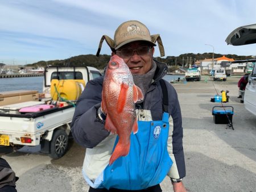
[[[104,39],[112,55],[125,61],[144,99],[136,103],[139,131],[131,136],[134,151],[130,149],[129,155],[109,165],[117,135],[104,128],[106,116],[100,107],[104,78],[86,85],[77,101],[71,131],[77,143],[86,147],[82,173],[89,191],[162,191],[159,183],[167,175],[174,191],[185,191],[181,181],[185,162],[179,101],[174,87],[162,80],[167,65],[153,60],[156,41],[164,56],[160,36],[150,35],[144,24],[130,20],[117,28],[114,40],[102,36],[97,55]]]

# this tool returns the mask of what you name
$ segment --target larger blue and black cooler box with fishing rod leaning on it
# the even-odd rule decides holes
[[[222,108],[217,110],[217,108]],[[232,123],[234,108],[232,106],[214,106],[212,108],[213,122],[215,124],[228,124],[229,120]]]

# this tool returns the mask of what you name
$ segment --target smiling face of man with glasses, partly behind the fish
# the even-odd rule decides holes
[[[129,50],[126,48],[131,49]],[[136,51],[138,49],[139,51]],[[125,51],[124,53],[127,53],[131,52],[131,50],[133,51],[133,55],[129,57],[122,55],[122,51]],[[141,53],[143,53],[143,55]],[[121,48],[117,50],[116,54],[119,57],[122,57],[123,61],[125,61],[125,63],[129,67],[131,74],[145,74],[151,69],[154,47],[151,48],[150,44],[144,41],[134,41],[126,45],[123,45]]]

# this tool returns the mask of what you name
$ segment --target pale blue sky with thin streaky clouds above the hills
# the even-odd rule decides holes
[[[237,27],[256,23],[255,7],[255,0],[0,0],[0,63],[96,55],[102,35],[113,38],[127,20],[160,34],[166,56],[213,49],[222,55],[256,55],[255,44],[225,42]],[[101,54],[111,54],[105,41]],[[154,56],[160,56],[158,47]]]

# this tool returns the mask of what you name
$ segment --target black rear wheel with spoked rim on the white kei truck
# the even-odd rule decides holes
[[[68,135],[64,130],[56,130],[53,132],[50,153],[51,158],[57,159],[62,157],[68,149]]]

